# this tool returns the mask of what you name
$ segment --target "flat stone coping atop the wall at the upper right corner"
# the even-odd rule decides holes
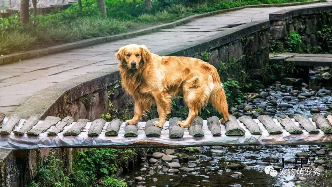
[[[317,14],[317,12],[332,12],[332,4],[326,3],[325,5],[317,5],[310,8],[298,8],[293,10],[282,10],[269,15],[270,21],[283,21],[291,17],[297,17],[299,15]]]

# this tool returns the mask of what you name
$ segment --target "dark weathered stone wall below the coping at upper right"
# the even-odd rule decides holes
[[[310,52],[310,48],[318,44],[317,31],[322,30],[323,25],[332,27],[331,12],[332,6],[324,6],[270,14],[270,40],[274,40],[279,45],[278,50],[283,51],[287,47],[285,39],[296,32],[301,36],[302,50]]]

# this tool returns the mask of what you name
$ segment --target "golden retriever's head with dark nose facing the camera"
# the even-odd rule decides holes
[[[151,60],[149,49],[136,44],[121,47],[115,55],[120,60],[120,65],[128,69],[139,69]]]

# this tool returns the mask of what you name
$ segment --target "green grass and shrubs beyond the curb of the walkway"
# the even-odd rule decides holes
[[[28,24],[20,15],[0,18],[0,54],[30,50],[126,32],[133,22],[165,23],[193,14],[244,5],[289,3],[308,0],[154,0],[150,11],[144,1],[106,0],[107,18],[101,16],[96,0],[81,1],[64,11],[31,15]]]

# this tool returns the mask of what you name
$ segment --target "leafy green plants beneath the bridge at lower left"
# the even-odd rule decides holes
[[[71,170],[65,174],[64,164],[51,152],[27,187],[125,187],[127,184],[117,179],[117,170],[132,164],[136,152],[132,149],[87,148],[73,151],[72,159]]]

